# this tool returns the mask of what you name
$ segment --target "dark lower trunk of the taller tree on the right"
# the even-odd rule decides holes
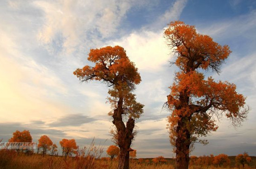
[[[189,146],[190,146],[190,133],[186,129],[186,124],[182,118],[178,122],[176,129],[177,139],[176,139],[176,168],[177,169],[189,169]]]

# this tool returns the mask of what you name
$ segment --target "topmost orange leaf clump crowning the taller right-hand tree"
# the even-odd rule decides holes
[[[186,73],[198,68],[218,72],[221,63],[231,53],[228,45],[217,44],[208,35],[197,33],[195,26],[182,21],[171,22],[164,37],[168,45],[175,48],[175,64]]]

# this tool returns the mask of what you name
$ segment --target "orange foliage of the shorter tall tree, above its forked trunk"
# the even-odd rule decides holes
[[[126,56],[126,51],[120,46],[106,46],[100,49],[91,49],[88,61],[95,63],[94,67],[84,66],[76,69],[76,75],[81,81],[103,81],[113,89],[108,91],[111,97],[108,101],[112,107],[117,108],[120,97],[123,99],[123,113],[129,117],[139,118],[143,113],[143,105],[136,102],[135,94],[131,91],[135,89],[135,84],[141,82],[141,76],[135,64]],[[109,115],[113,115],[110,112]]]

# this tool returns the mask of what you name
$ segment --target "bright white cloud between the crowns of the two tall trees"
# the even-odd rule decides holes
[[[162,64],[166,64],[170,58],[170,51],[162,35],[162,31],[133,32],[108,44],[122,46],[139,70],[155,71],[161,69]]]

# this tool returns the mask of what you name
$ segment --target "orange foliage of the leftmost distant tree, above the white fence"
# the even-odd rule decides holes
[[[13,132],[13,137],[9,139],[9,142],[32,142],[32,137],[28,130]]]

